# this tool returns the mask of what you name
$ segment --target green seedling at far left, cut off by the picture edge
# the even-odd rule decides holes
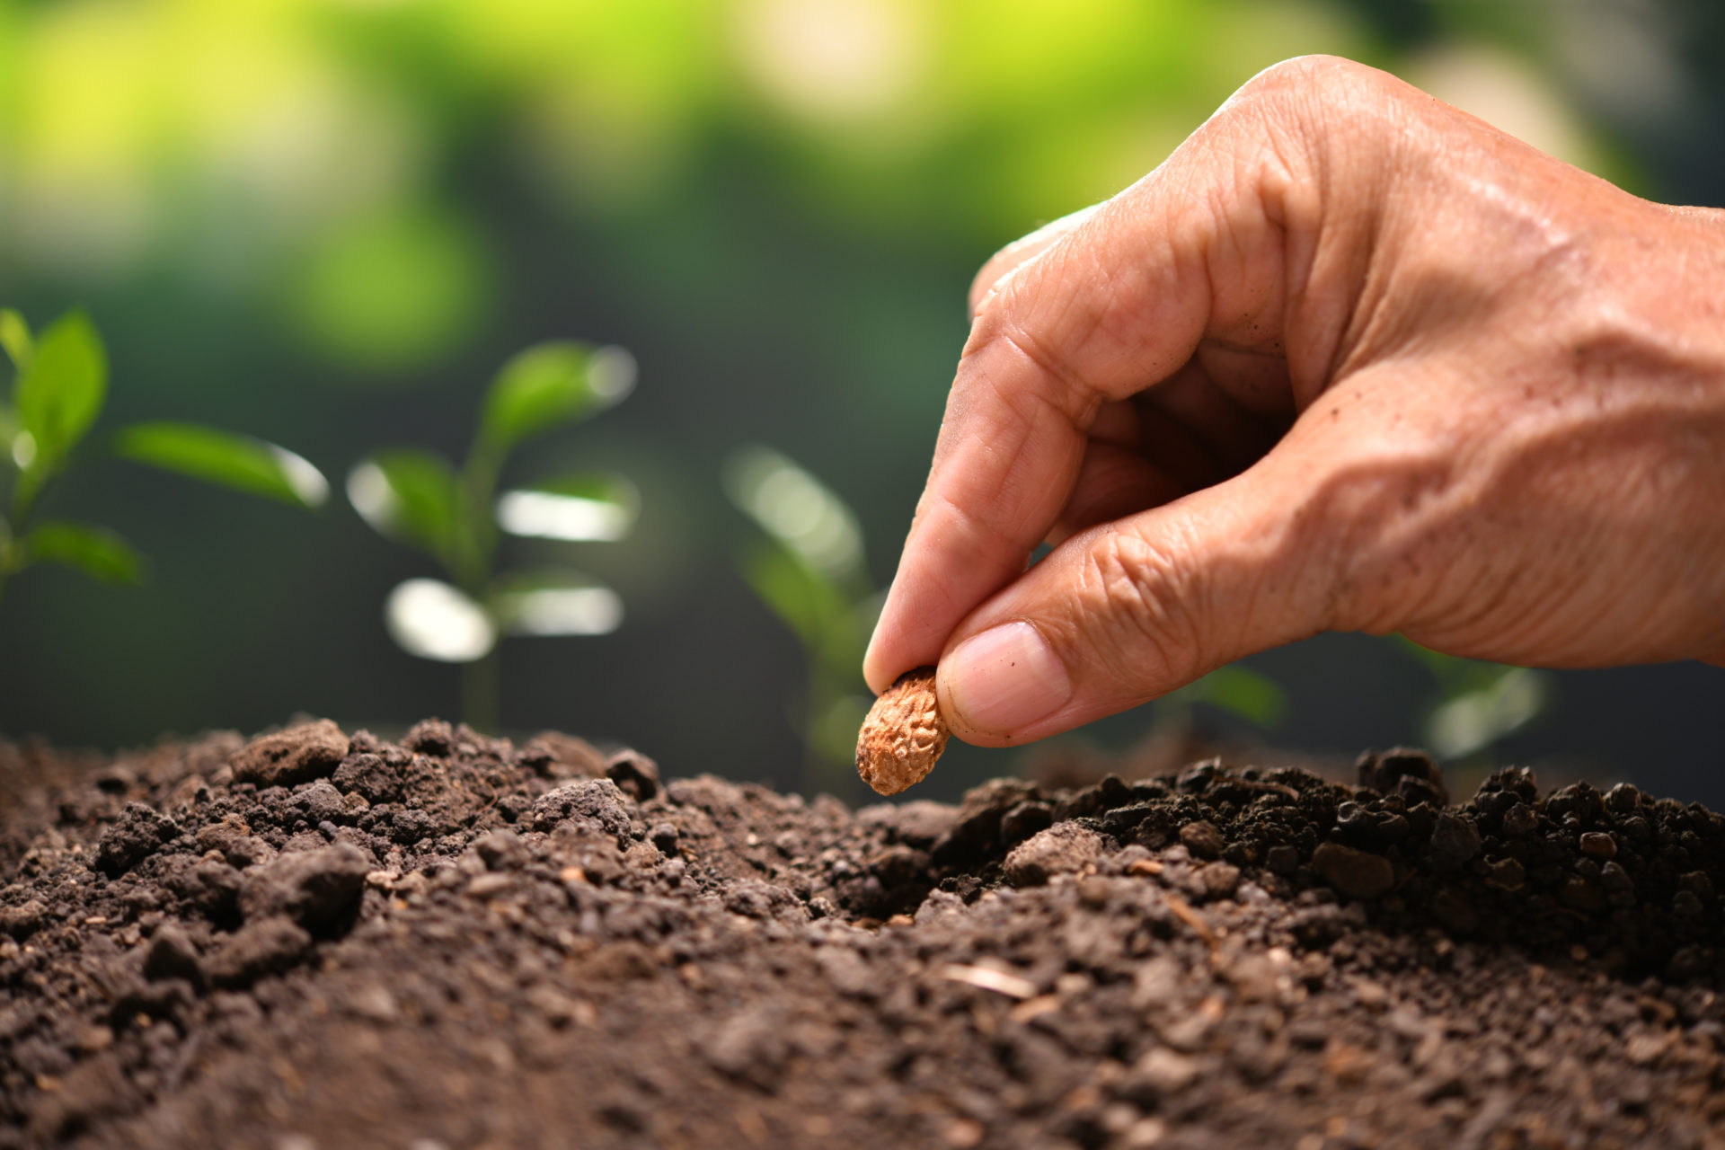
[[[0,347],[12,360],[12,391],[0,402],[0,593],[36,564],[64,564],[105,583],[136,583],[143,559],[114,531],[66,519],[36,519],[53,481],[83,462],[78,453],[107,402],[107,350],[90,317],[69,312],[33,334],[24,317],[0,310]],[[293,452],[188,422],[121,428],[105,447],[122,457],[233,491],[317,507],[323,474]]]

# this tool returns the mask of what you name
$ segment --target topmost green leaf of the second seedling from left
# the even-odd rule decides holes
[[[635,359],[623,348],[554,340],[518,352],[485,395],[480,440],[507,450],[528,436],[619,402],[635,386]]]

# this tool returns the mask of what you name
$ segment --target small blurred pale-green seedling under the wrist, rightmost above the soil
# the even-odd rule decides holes
[[[1397,634],[1437,683],[1421,736],[1439,759],[1468,759],[1520,731],[1551,707],[1556,697],[1549,674],[1478,659],[1458,659],[1427,650]]]

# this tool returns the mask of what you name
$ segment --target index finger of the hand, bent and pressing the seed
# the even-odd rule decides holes
[[[1273,136],[1252,107],[1218,116],[992,295],[864,659],[876,691],[935,662],[959,619],[1025,569],[1066,507],[1104,402],[1168,378],[1206,334],[1256,350],[1280,341],[1276,221],[1289,216],[1282,190],[1299,181]]]

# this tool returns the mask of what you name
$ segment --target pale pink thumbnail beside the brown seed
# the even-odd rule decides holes
[[[988,734],[1014,734],[1073,697],[1066,666],[1028,622],[973,634],[942,660],[947,698],[959,721]]]

